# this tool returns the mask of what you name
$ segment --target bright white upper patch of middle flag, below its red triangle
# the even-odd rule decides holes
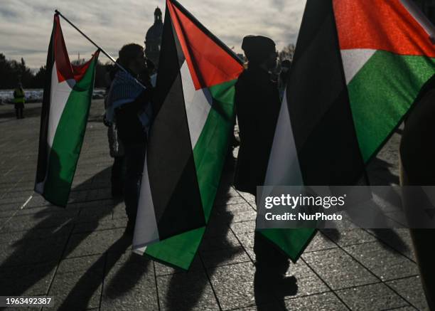
[[[195,85],[193,85],[192,76],[190,75],[186,61],[181,66],[181,79],[190,140],[192,142],[192,149],[194,149],[201,132],[203,132],[205,122],[207,122],[208,112],[210,112],[210,108],[213,104],[213,97],[208,88],[195,90]]]

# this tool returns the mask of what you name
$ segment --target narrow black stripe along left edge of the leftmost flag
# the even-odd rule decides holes
[[[48,46],[47,63],[45,66],[45,85],[43,91],[43,103],[41,110],[41,127],[39,130],[39,151],[38,151],[38,167],[36,168],[35,185],[45,180],[48,166],[48,117],[50,115],[50,95],[51,95],[51,75],[53,71],[54,59],[54,36],[56,22],[53,22],[53,31],[51,31],[50,44]]]

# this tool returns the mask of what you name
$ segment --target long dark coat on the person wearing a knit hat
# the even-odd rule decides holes
[[[255,195],[264,184],[280,107],[278,86],[266,70],[250,67],[240,75],[235,107],[240,130],[235,187]]]

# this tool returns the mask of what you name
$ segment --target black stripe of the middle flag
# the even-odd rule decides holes
[[[166,8],[147,165],[159,238],[205,226],[183,97],[184,62]]]

